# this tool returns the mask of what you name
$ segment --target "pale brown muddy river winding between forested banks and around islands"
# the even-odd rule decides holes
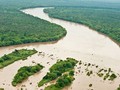
[[[120,48],[117,44],[108,37],[101,35],[84,25],[50,18],[43,12],[43,9],[44,8],[26,9],[23,10],[23,12],[61,25],[67,30],[66,37],[53,43],[31,43],[0,48],[0,56],[10,53],[15,49],[22,48],[35,48],[36,50],[43,52],[42,55],[37,53],[28,57],[25,61],[17,61],[1,69],[0,87],[5,88],[5,90],[20,90],[21,87],[25,90],[44,89],[44,86],[38,88],[37,83],[58,58],[65,59],[66,57],[73,57],[84,62],[98,64],[100,67],[110,67],[117,73],[120,72]],[[51,54],[53,54],[53,56],[51,56]],[[12,87],[11,81],[17,70],[22,66],[34,65],[34,63],[32,63],[33,61],[41,63],[45,68],[17,87]],[[94,90],[115,90],[120,84],[119,78],[114,82],[109,82],[102,81],[97,76],[86,77],[84,73],[75,75],[75,78],[73,84],[70,87],[65,88],[65,90],[89,90],[90,83],[94,85],[92,87]],[[30,84],[31,82],[32,84]]]

